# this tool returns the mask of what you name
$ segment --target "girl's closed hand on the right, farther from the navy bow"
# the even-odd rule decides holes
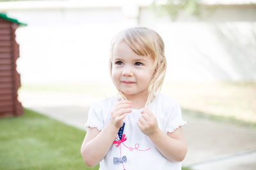
[[[156,117],[148,108],[141,111],[141,114],[142,115],[137,122],[138,127],[143,134],[147,136],[153,135],[158,130]]]

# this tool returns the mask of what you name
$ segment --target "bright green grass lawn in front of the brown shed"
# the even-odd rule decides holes
[[[99,169],[87,167],[81,157],[84,131],[24,111],[20,117],[0,119],[0,169]]]

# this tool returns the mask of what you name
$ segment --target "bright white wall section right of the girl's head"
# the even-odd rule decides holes
[[[140,24],[163,37],[170,81],[256,80],[256,5],[215,6],[175,22],[144,7]]]

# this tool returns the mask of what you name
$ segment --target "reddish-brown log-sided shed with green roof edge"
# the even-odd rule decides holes
[[[20,74],[16,69],[19,45],[15,40],[15,31],[21,25],[26,24],[0,13],[0,117],[24,113],[17,94],[20,87]]]

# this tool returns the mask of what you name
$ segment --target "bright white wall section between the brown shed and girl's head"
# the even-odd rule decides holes
[[[120,9],[15,11],[22,83],[108,81],[109,43]],[[100,71],[99,71],[100,70]]]

